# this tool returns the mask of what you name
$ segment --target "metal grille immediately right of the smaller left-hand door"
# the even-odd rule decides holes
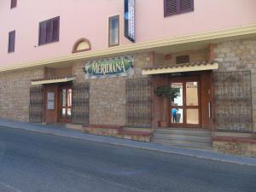
[[[73,84],[72,123],[89,124],[90,83]]]

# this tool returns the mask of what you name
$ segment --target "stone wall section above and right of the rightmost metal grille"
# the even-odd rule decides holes
[[[256,131],[256,38],[216,44],[212,49],[219,72],[251,71],[253,131]]]

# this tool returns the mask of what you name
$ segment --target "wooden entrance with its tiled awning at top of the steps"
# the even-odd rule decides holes
[[[154,90],[166,85],[177,90],[177,96],[168,98],[169,102],[163,96],[153,95],[152,125],[213,130],[212,71],[216,69],[218,63],[203,61],[143,68],[143,75],[151,75]]]

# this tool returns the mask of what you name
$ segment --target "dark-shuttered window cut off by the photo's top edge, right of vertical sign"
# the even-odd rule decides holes
[[[194,10],[194,0],[164,0],[165,17]]]

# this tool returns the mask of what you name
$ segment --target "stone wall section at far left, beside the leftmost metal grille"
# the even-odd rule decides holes
[[[27,122],[31,80],[42,78],[44,68],[0,73],[0,117]]]

